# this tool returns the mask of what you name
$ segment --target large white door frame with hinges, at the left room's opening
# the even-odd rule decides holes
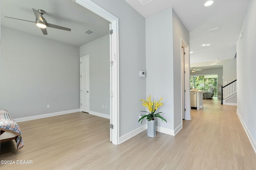
[[[113,129],[110,129],[110,141],[114,145],[119,144],[120,138],[120,93],[119,93],[119,27],[118,18],[104,10],[90,0],[73,0],[84,8],[94,12],[98,16],[110,21],[113,33],[110,41],[110,62],[113,61],[110,69],[110,124]],[[111,132],[112,131],[112,132]]]

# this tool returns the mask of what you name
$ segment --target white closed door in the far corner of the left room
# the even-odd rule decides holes
[[[89,55],[80,58],[81,111],[89,112]]]

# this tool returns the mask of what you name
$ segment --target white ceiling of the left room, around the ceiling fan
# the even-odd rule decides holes
[[[109,21],[72,0],[1,0],[0,6],[1,25],[71,45],[81,46],[109,34]],[[48,23],[68,27],[71,31],[48,27],[48,35],[43,35],[35,23],[4,17],[35,21],[32,8],[46,11],[43,16]],[[87,29],[94,33],[85,34]]]

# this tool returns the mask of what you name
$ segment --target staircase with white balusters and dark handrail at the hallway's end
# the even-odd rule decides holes
[[[226,86],[221,86],[221,104],[224,105],[237,105],[237,88],[236,80],[227,84]]]

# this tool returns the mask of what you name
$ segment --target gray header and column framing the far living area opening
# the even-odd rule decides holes
[[[223,85],[222,84],[223,68],[212,68],[212,69],[204,69],[202,71],[190,72],[190,76],[207,75],[207,74],[218,74],[218,96],[221,96],[221,86]]]

